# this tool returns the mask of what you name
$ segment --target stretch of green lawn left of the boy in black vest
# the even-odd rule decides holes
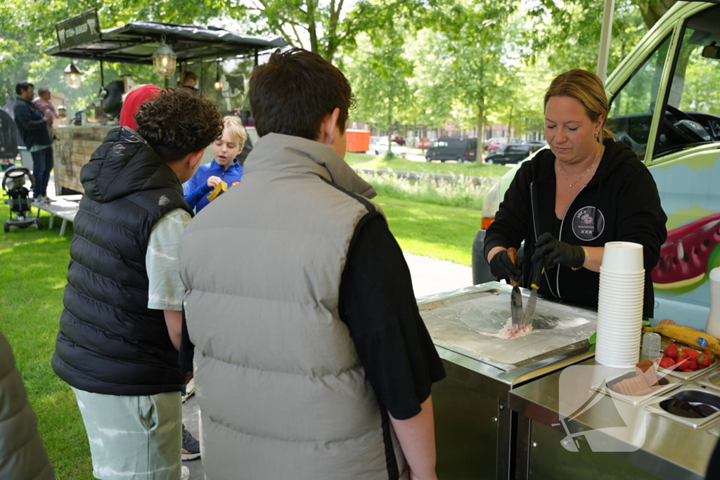
[[[0,205],[2,221],[8,211]],[[41,217],[47,228],[48,214]],[[90,448],[75,396],[50,366],[72,236],[72,228],[58,236],[59,224],[53,230],[0,233],[0,331],[13,347],[56,477],[90,480]]]

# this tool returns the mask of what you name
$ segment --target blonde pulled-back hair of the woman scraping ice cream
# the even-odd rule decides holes
[[[615,139],[613,132],[605,127],[608,119],[608,96],[605,94],[603,81],[593,72],[580,70],[575,68],[565,73],[560,73],[550,83],[550,88],[545,94],[544,107],[553,96],[570,96],[580,101],[585,107],[585,113],[588,114],[590,120],[597,122],[600,115],[605,117],[603,124],[600,125],[598,132],[598,142],[602,143],[606,138]]]

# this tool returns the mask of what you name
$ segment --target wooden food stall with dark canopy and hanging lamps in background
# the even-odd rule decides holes
[[[236,81],[238,85],[233,85],[233,78],[221,77],[220,62],[249,59],[257,65],[261,52],[287,45],[282,37],[255,37],[217,27],[160,22],[130,22],[120,27],[101,30],[96,9],[59,22],[56,30],[58,45],[45,53],[56,57],[99,62],[101,85],[96,112],[97,117],[104,117],[99,122],[92,118],[94,112],[68,112],[68,126],[56,129],[58,140],[54,144],[55,189],[60,195],[83,192],[80,168],[90,160],[90,155],[107,132],[117,126],[122,95],[132,88],[132,79],[127,77],[106,83],[104,63],[135,63],[148,65],[148,68],[152,65],[156,72],[163,73],[162,76],[158,74],[158,85],[164,82],[165,88],[168,87],[169,78],[174,78],[183,68],[194,65],[193,68],[210,71],[211,78],[213,74],[216,75],[215,89],[219,86],[222,91],[243,91],[242,78]],[[80,72],[74,63],[71,63],[66,68],[66,77],[73,75],[76,76],[76,81],[79,81]],[[226,81],[222,82],[222,79]],[[207,90],[213,85],[202,87]],[[232,112],[228,104],[220,104],[218,107],[221,112]],[[210,151],[205,155],[210,155]],[[203,163],[210,160],[210,157],[204,158]]]

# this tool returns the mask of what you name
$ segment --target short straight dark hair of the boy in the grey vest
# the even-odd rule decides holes
[[[302,48],[275,50],[250,77],[258,135],[282,133],[317,140],[325,115],[340,109],[344,132],[355,99],[348,79],[328,60]]]

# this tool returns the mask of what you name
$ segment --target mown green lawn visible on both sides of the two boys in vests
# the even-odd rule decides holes
[[[377,196],[402,250],[470,265],[480,212]],[[33,209],[35,212],[35,209]],[[0,203],[0,219],[8,207]],[[48,214],[42,212],[45,229]],[[50,366],[55,350],[72,228],[0,232],[0,331],[10,341],[40,435],[59,480],[91,480],[90,449],[70,387]]]

